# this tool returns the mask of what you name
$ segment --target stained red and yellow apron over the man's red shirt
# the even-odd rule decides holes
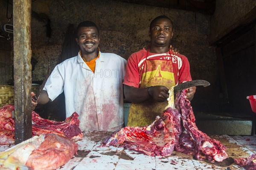
[[[149,49],[148,49],[149,51]],[[171,54],[171,52],[169,51]],[[149,86],[175,86],[174,66],[172,60],[151,59],[146,55],[140,88]],[[157,115],[161,116],[168,101],[157,102],[154,99],[141,103],[131,103],[128,126],[145,126],[151,124]]]

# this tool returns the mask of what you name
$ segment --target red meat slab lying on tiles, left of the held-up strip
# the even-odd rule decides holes
[[[102,144],[126,147],[148,156],[168,156],[172,154],[180,132],[180,114],[169,108],[163,118],[157,116],[149,126],[124,127],[108,136]]]

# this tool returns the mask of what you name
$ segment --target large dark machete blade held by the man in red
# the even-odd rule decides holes
[[[177,92],[179,92],[183,89],[187,89],[187,88],[192,87],[192,86],[207,87],[209,85],[210,85],[210,83],[208,81],[205,81],[205,80],[192,80],[192,81],[187,81],[185,83],[182,83],[182,84],[179,84],[179,85],[175,86],[173,92],[177,93]]]

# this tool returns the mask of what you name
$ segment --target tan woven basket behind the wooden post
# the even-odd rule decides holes
[[[32,92],[37,92],[39,86],[31,86]],[[14,104],[14,86],[0,86],[0,107],[6,104]]]

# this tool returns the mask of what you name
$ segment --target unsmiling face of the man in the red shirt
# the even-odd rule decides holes
[[[172,39],[172,23],[166,18],[154,21],[149,30],[151,46],[169,46]]]

